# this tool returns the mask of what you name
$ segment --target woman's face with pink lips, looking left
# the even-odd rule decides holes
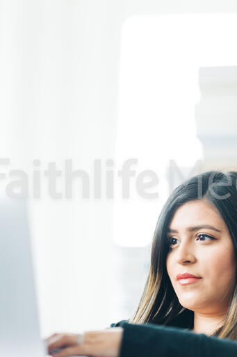
[[[187,202],[174,213],[168,231],[166,267],[179,303],[195,312],[225,313],[235,288],[236,261],[218,210],[204,199]],[[199,279],[177,280],[184,273]]]

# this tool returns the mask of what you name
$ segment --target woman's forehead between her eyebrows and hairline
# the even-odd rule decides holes
[[[204,199],[186,202],[177,208],[169,227],[183,229],[197,224],[218,225],[222,229],[227,229],[217,208]]]

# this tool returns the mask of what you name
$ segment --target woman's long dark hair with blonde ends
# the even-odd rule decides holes
[[[152,242],[149,275],[140,303],[129,322],[193,329],[194,312],[181,306],[167,274],[167,228],[179,206],[191,200],[207,199],[218,209],[229,229],[237,261],[236,184],[237,172],[210,171],[194,176],[174,189],[158,217]],[[231,298],[224,325],[213,335],[237,340],[237,287]]]

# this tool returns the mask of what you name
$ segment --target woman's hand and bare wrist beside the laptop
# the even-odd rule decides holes
[[[91,356],[119,357],[122,342],[122,327],[107,328],[101,331],[86,331],[83,343],[77,343],[77,335],[70,333],[54,333],[46,342],[49,354],[54,349],[63,349],[51,354],[54,357]]]

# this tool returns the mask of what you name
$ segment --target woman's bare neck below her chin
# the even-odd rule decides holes
[[[224,324],[226,314],[202,314],[195,312],[193,332],[212,335],[215,330]]]

